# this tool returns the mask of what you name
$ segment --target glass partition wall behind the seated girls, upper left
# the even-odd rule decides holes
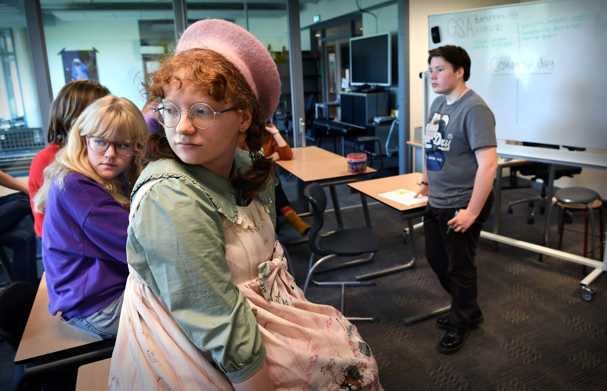
[[[39,0],[53,98],[76,78],[105,85],[143,107],[141,81],[175,46],[173,0]],[[188,24],[222,18],[248,29],[288,66],[287,2],[185,2]],[[42,124],[24,3],[0,0],[0,126]],[[34,55],[37,56],[36,53]],[[41,55],[40,55],[41,56]],[[286,75],[281,75],[288,78]],[[283,80],[288,87],[288,80]],[[285,91],[285,93],[289,93]]]

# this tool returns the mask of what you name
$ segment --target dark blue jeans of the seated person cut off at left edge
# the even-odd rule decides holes
[[[13,271],[17,281],[38,286],[36,233],[19,227],[19,222],[30,214],[30,198],[26,194],[14,193],[0,198],[0,246],[13,250]]]

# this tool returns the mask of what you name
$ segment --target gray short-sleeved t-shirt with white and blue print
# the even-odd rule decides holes
[[[430,107],[425,140],[430,206],[466,207],[478,169],[474,150],[497,146],[493,113],[472,90],[450,105],[439,96]]]

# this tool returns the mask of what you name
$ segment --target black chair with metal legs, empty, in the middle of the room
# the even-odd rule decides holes
[[[330,233],[320,233],[324,225],[324,213],[327,207],[327,195],[325,190],[317,183],[312,183],[304,189],[304,195],[310,200],[314,212],[314,222],[308,232],[308,245],[312,254],[310,256],[310,266],[308,276],[304,284],[304,295],[310,284],[318,286],[341,286],[341,312],[344,313],[345,307],[345,287],[347,286],[374,286],[371,281],[316,281],[313,278],[314,272],[321,264],[328,259],[336,256],[358,256],[370,253],[367,258],[357,259],[356,261],[345,262],[334,269],[353,266],[371,261],[373,255],[379,250],[379,236],[368,227],[350,228],[337,230]],[[313,262],[314,255],[319,255],[318,261]],[[327,269],[325,269],[326,271]],[[373,318],[350,318],[353,321],[373,321]]]

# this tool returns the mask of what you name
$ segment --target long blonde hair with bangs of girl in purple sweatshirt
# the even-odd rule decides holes
[[[148,125],[143,115],[129,99],[107,95],[92,102],[74,122],[67,143],[56,154],[55,161],[44,169],[44,185],[34,197],[35,211],[38,213],[44,211],[53,180],[59,189],[64,189],[64,179],[70,171],[86,175],[97,182],[112,195],[112,198],[129,210],[129,195],[141,173],[138,159],[131,156],[131,164],[126,169],[128,190],[125,194],[123,184],[118,178],[101,178],[90,165],[86,136],[118,139],[137,144],[148,133]]]

